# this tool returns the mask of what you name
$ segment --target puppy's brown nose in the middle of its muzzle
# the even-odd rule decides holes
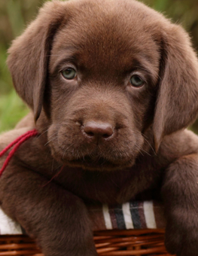
[[[114,134],[110,123],[90,121],[84,124],[84,135],[90,139],[108,139]]]

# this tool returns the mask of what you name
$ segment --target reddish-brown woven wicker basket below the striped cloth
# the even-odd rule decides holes
[[[164,230],[161,229],[95,231],[94,240],[98,254],[103,256],[170,255],[164,246]],[[28,236],[0,236],[0,256],[11,255],[44,256]]]

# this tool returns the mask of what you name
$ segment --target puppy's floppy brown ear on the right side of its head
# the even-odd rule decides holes
[[[160,85],[154,114],[154,143],[192,123],[198,113],[198,61],[190,39],[180,26],[169,25],[163,35]]]

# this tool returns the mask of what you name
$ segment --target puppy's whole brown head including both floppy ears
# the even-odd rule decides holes
[[[198,62],[186,32],[136,1],[48,2],[9,50],[17,93],[50,124],[53,157],[88,169],[132,166],[153,127],[198,110]]]

